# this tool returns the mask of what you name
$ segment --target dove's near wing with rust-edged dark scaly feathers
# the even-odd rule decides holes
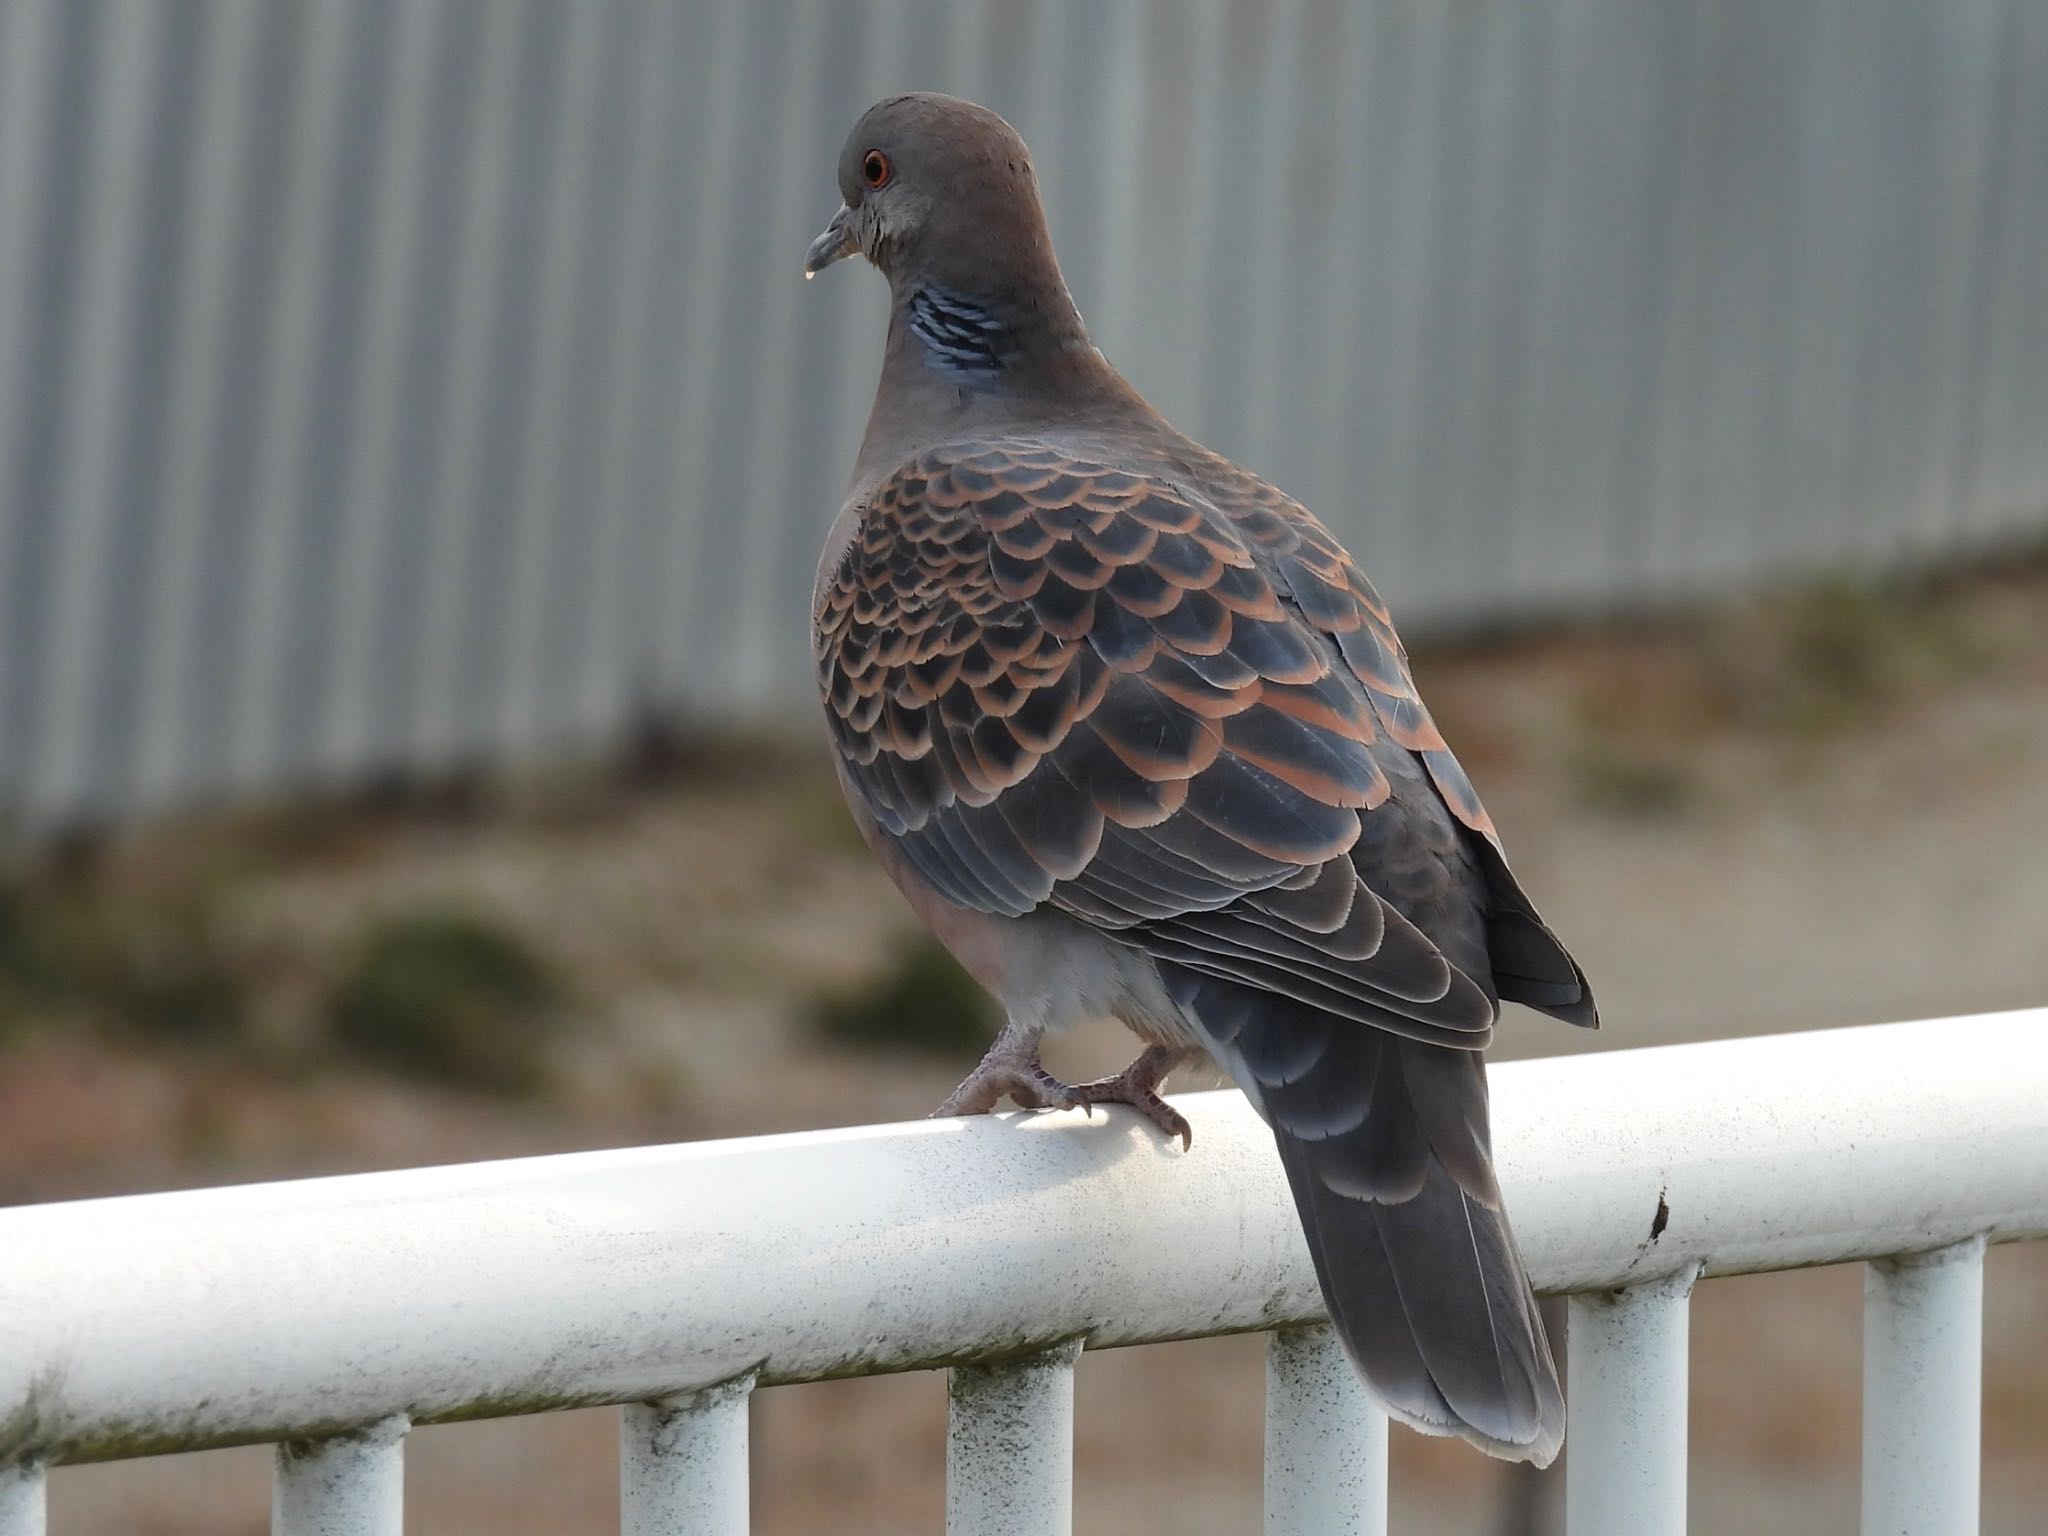
[[[1454,889],[1470,866],[1419,825],[1442,809],[1389,764],[1448,780],[1481,834],[1485,813],[1376,598],[1348,623],[1307,580],[1323,551],[1276,551],[1260,516],[1161,475],[1030,440],[926,453],[819,594],[846,778],[958,907],[1051,905],[1198,975],[1483,1047],[1483,940],[1460,967],[1403,915],[1479,924],[1483,891]]]

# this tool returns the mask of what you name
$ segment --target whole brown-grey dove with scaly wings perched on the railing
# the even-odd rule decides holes
[[[817,682],[862,838],[1006,1016],[938,1114],[1126,1104],[1190,1145],[1159,1090],[1210,1057],[1272,1128],[1370,1395],[1548,1464],[1565,1403],[1481,1053],[1501,999],[1597,1016],[1386,604],[1094,346],[1004,119],[883,100],[838,186],[805,276],[858,254],[891,305]],[[1143,1051],[1065,1083],[1040,1038],[1090,1018]]]

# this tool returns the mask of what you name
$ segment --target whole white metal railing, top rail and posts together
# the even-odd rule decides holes
[[[1976,1528],[1987,1241],[2048,1235],[2048,1010],[1495,1071],[1571,1292],[1573,1532],[1686,1520],[1700,1274],[1870,1262],[1864,1530]],[[1272,1331],[1268,1532],[1382,1532],[1386,1427],[1235,1094],[0,1212],[0,1536],[45,1466],[276,1442],[279,1536],[399,1530],[412,1423],[623,1403],[629,1536],[743,1532],[758,1384],[946,1366],[948,1532],[1069,1530],[1079,1348]],[[1030,1479],[1034,1497],[1008,1491]]]

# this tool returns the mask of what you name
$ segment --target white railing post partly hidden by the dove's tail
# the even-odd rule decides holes
[[[1331,1327],[1266,1339],[1266,1536],[1386,1536],[1386,1415]]]

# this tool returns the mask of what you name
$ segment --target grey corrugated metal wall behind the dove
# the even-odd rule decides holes
[[[0,0],[0,813],[805,709],[901,88],[1411,629],[2048,526],[2040,0]]]

